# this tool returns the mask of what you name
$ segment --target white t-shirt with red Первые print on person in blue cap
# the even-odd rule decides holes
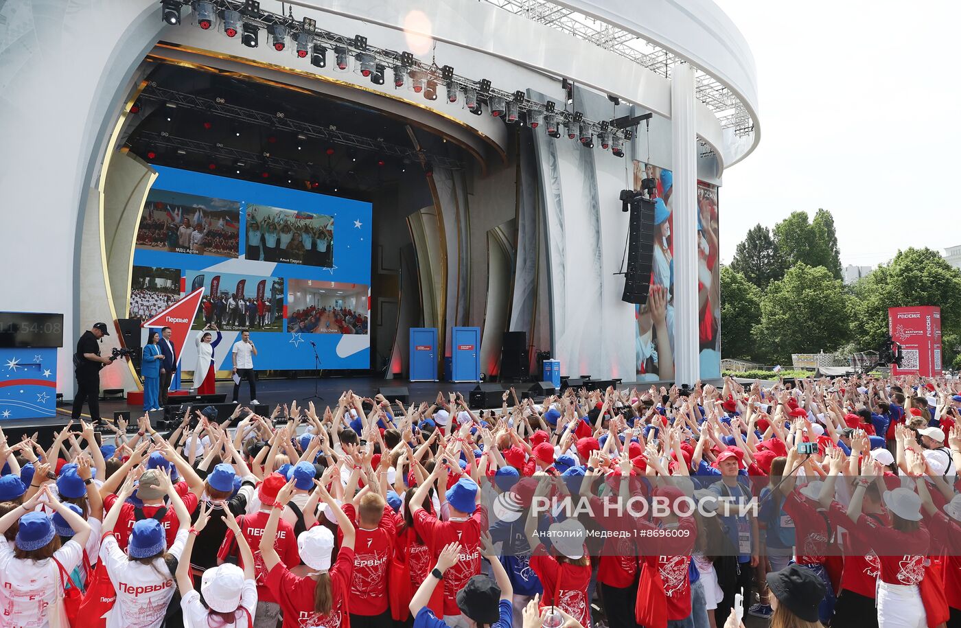
[[[177,531],[174,544],[168,550],[180,560],[184,553],[187,531]],[[167,566],[162,559],[153,565],[142,565],[127,558],[111,535],[100,545],[100,559],[105,561],[107,573],[117,592],[117,600],[107,616],[107,628],[156,628],[166,615],[167,605],[174,596],[177,583],[174,574],[166,576]],[[161,575],[164,574],[164,575]]]

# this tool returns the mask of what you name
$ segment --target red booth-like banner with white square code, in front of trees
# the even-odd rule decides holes
[[[901,348],[901,365],[891,374],[941,376],[940,307],[890,307],[888,329]]]

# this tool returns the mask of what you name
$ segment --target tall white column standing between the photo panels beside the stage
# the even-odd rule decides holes
[[[671,155],[674,171],[674,364],[675,380],[694,385],[698,356],[698,137],[694,68],[676,63],[671,79]]]

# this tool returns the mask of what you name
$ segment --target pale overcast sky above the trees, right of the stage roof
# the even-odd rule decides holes
[[[724,173],[721,258],[830,210],[843,265],[961,244],[961,2],[715,0],[757,64],[761,140]]]

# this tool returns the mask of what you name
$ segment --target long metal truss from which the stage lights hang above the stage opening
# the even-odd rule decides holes
[[[189,5],[188,0],[162,0],[164,2],[179,2],[181,5]],[[427,63],[421,60],[415,59],[410,53],[398,52],[396,50],[388,50],[385,48],[378,48],[372,44],[368,44],[367,37],[364,36],[342,36],[336,33],[331,33],[330,31],[325,31],[323,29],[317,28],[316,21],[305,17],[302,21],[294,19],[292,15],[283,15],[282,13],[273,13],[261,10],[259,8],[259,2],[254,0],[210,0],[216,11],[219,14],[223,14],[226,11],[236,11],[243,15],[243,21],[256,25],[259,28],[266,29],[271,25],[282,25],[286,27],[287,36],[291,40],[296,40],[299,34],[307,34],[310,37],[310,44],[320,43],[328,47],[329,50],[339,47],[346,49],[349,57],[355,57],[357,53],[364,53],[366,55],[371,55],[376,63],[382,63],[384,67],[389,71],[390,68],[395,65],[403,65],[407,68],[408,75],[409,72],[424,72],[428,80],[436,81],[438,86],[447,85],[448,83],[456,85],[458,90],[465,88],[476,89],[477,90],[477,100],[478,103],[486,103],[490,98],[503,98],[505,103],[516,103],[519,111],[523,111],[525,114],[539,113],[541,115],[547,113],[554,113],[558,116],[561,123],[576,120],[579,124],[586,124],[591,130],[592,134],[597,133],[610,133],[608,128],[610,123],[607,120],[590,120],[578,111],[569,111],[563,109],[563,104],[560,104],[558,109],[548,109],[543,103],[538,103],[532,101],[524,94],[523,91],[505,91],[491,85],[490,81],[487,80],[475,80],[459,74],[454,73],[454,68],[449,65],[443,67],[438,66],[436,62]],[[495,2],[494,4],[498,4]],[[507,3],[509,4],[509,3]],[[552,5],[553,6],[553,5]],[[446,76],[445,76],[446,75]],[[628,141],[631,138],[631,133],[622,132],[616,133],[623,140]]]

